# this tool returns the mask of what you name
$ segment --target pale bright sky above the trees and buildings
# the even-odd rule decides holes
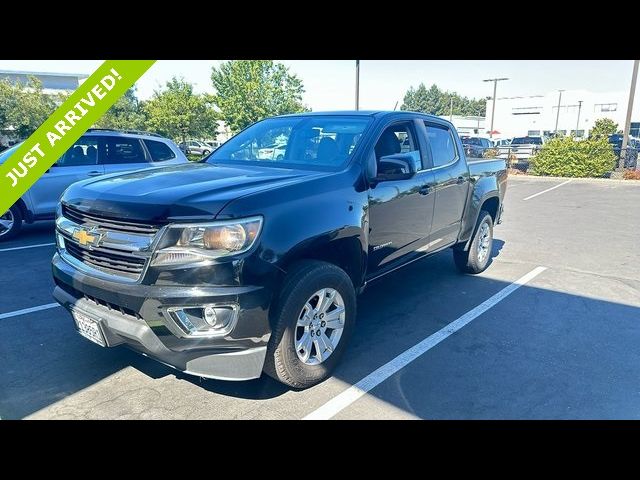
[[[153,95],[172,76],[182,76],[197,92],[212,92],[211,67],[220,60],[159,60],[138,81],[141,99]],[[282,60],[304,84],[304,103],[313,110],[354,108],[354,60]],[[101,60],[0,60],[1,70],[90,74]],[[360,108],[393,110],[406,90],[424,82],[443,90],[483,98],[492,95],[492,83],[482,80],[508,77],[497,97],[543,95],[558,89],[594,92],[628,91],[632,60],[362,60]],[[640,100],[634,105],[638,111]]]

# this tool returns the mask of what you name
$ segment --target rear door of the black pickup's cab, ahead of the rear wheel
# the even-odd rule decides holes
[[[458,151],[456,136],[444,123],[425,121],[435,182],[431,250],[454,243],[460,232],[469,193],[469,169]]]

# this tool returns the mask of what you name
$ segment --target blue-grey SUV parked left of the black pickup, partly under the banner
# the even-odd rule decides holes
[[[0,153],[0,164],[21,145]],[[90,129],[9,210],[0,216],[0,241],[19,234],[23,222],[51,220],[72,183],[107,173],[187,162],[169,139],[145,132]]]

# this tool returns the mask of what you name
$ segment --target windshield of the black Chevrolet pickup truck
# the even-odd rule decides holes
[[[347,163],[370,122],[370,117],[346,115],[268,118],[218,147],[206,161],[338,169]]]

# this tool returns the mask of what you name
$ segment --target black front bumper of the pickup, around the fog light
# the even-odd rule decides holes
[[[107,346],[125,344],[189,374],[249,380],[262,374],[271,334],[271,294],[254,286],[153,286],[110,282],[52,261],[55,299],[96,319]],[[181,335],[168,309],[236,304],[238,318],[224,336]]]

